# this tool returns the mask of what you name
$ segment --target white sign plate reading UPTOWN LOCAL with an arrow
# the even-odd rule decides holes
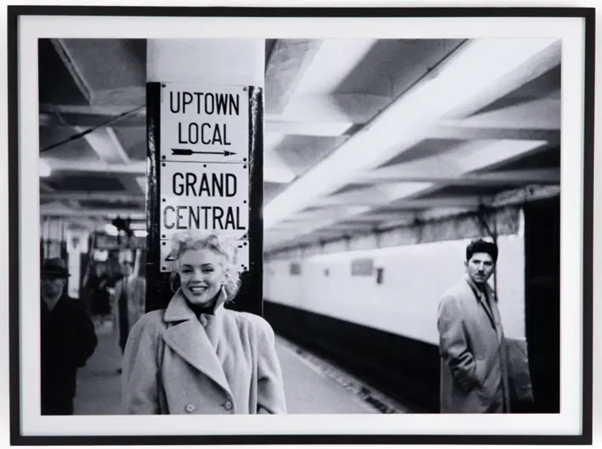
[[[161,84],[161,159],[249,161],[249,88]]]

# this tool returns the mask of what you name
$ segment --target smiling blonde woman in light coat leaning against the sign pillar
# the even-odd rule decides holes
[[[223,307],[240,283],[236,247],[213,232],[185,231],[174,236],[172,256],[174,296],[144,315],[126,344],[125,413],[286,413],[272,327]]]

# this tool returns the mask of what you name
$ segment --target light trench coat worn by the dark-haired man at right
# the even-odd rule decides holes
[[[510,412],[504,331],[494,291],[486,288],[491,308],[468,275],[439,303],[441,413]]]

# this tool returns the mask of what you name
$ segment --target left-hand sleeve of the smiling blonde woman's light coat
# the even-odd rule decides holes
[[[159,364],[156,326],[141,318],[132,327],[123,353],[122,404],[126,415],[157,415]]]

